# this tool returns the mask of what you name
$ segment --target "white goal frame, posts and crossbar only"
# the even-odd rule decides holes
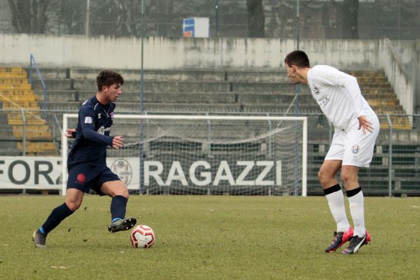
[[[67,182],[67,155],[69,148],[67,145],[67,138],[65,132],[68,127],[69,118],[78,118],[76,113],[64,113],[63,114],[63,133],[62,133],[62,195],[66,195],[66,182]],[[176,119],[176,120],[267,120],[267,121],[281,121],[281,120],[298,120],[302,122],[302,196],[307,196],[307,117],[276,117],[276,116],[203,116],[203,115],[125,115],[118,114],[114,118],[126,118],[126,119]],[[71,127],[73,128],[73,127]]]

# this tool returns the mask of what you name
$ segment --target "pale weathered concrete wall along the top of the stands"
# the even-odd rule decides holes
[[[375,70],[378,41],[302,40],[311,64],[339,69]],[[279,38],[144,39],[146,69],[283,67],[295,41]],[[40,66],[139,69],[141,39],[135,37],[0,34],[0,64],[26,66],[33,54]]]

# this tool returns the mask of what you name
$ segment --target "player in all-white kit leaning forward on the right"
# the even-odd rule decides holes
[[[321,111],[334,125],[330,150],[318,172],[337,231],[325,253],[337,250],[346,241],[349,246],[342,253],[353,254],[370,241],[365,228],[363,192],[358,183],[359,167],[369,167],[374,143],[379,134],[379,120],[365,98],[356,78],[332,66],[309,66],[302,50],[295,50],[284,59],[287,74],[293,83],[309,85],[311,94]],[[349,200],[351,228],[344,207],[344,195],[336,174],[341,169],[341,179]]]

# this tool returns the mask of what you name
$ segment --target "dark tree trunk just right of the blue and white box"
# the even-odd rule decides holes
[[[246,0],[248,11],[248,36],[265,37],[265,19],[262,0]]]

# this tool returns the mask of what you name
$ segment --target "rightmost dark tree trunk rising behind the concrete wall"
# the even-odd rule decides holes
[[[343,1],[343,38],[358,39],[358,0]]]

